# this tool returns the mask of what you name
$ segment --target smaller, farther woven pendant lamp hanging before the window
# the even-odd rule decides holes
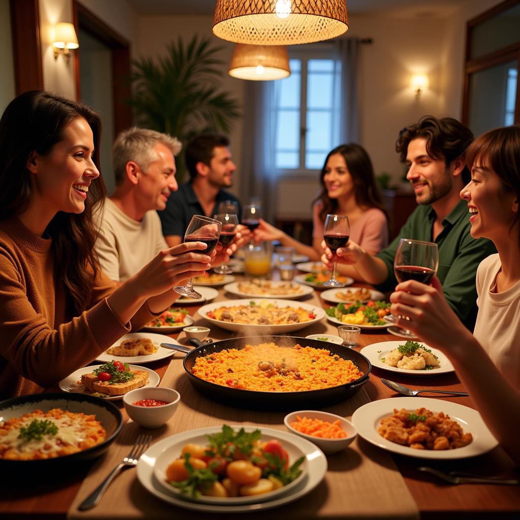
[[[280,80],[291,73],[289,55],[283,45],[237,43],[228,74],[241,80]]]

